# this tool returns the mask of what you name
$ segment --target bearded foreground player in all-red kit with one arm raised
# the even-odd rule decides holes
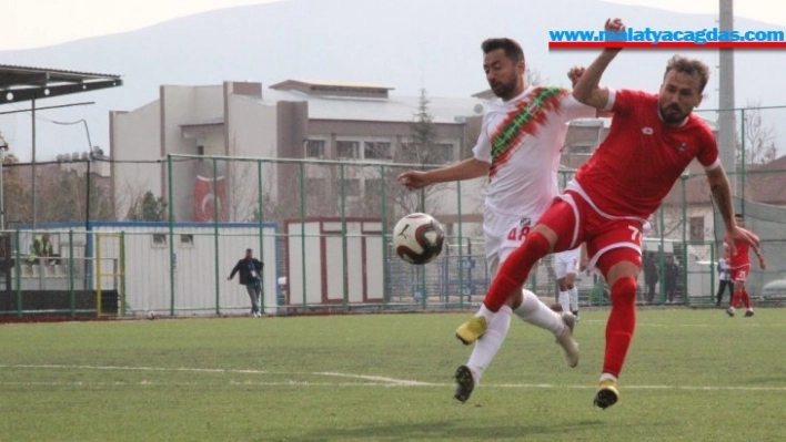
[[[618,19],[606,21],[606,31],[624,29]],[[754,235],[737,227],[715,137],[693,114],[702,102],[708,68],[699,61],[674,56],[666,65],[658,94],[602,89],[601,76],[619,50],[604,49],[573,89],[580,102],[614,112],[606,140],[502,265],[481,311],[457,330],[483,336],[485,323],[508,296],[521,290],[538,259],[585,241],[588,266],[597,268],[612,288],[603,371],[594,402],[602,409],[617,402],[617,377],[636,326],[636,280],[646,219],[691,161],[698,160],[705,168],[726,236],[734,241],[757,243]],[[729,248],[734,253],[733,243]]]

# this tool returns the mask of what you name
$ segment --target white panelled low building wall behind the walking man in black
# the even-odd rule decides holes
[[[108,259],[120,257],[117,241],[110,237],[110,233],[124,234],[125,300],[132,312],[153,310],[168,313],[172,306],[180,310],[178,316],[214,315],[216,310],[221,313],[250,311],[251,301],[245,287],[239,284],[239,276],[235,275],[231,281],[226,280],[249,247],[264,263],[262,276],[265,312],[276,311],[275,230],[271,225],[264,225],[261,251],[260,230],[254,225],[220,227],[218,250],[213,225],[187,224],[175,227],[174,287],[171,284],[170,237],[165,224],[151,226],[143,223],[135,226],[132,223],[119,223],[115,226],[98,227],[94,232],[99,236],[103,235],[98,241],[102,247],[102,257]],[[163,234],[167,243],[154,244],[153,234]],[[183,244],[181,235],[192,235],[193,243]]]

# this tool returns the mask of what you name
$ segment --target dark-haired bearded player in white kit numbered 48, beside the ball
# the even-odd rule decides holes
[[[397,179],[416,189],[487,175],[483,230],[488,269],[494,275],[558,194],[556,172],[568,121],[594,116],[595,110],[576,102],[570,90],[527,88],[524,52],[514,40],[488,39],[482,49],[486,81],[502,101],[483,116],[473,157],[439,169],[405,172]],[[574,69],[568,76],[575,81],[582,72]],[[565,350],[568,364],[578,363],[571,313],[554,312],[530,290],[512,297],[501,311],[488,325],[491,332],[477,340],[466,366],[456,370],[454,397],[462,402],[470,398],[502,346],[512,313],[550,330]],[[456,337],[462,339],[461,333]]]

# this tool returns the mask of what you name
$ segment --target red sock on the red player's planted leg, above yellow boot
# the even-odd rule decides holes
[[[621,278],[612,287],[612,311],[606,322],[603,372],[619,376],[636,329],[636,280]]]

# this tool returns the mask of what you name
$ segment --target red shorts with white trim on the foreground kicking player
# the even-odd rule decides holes
[[[537,224],[543,224],[557,234],[560,239],[554,247],[555,253],[586,243],[590,267],[597,264],[604,276],[619,258],[642,267],[642,222],[606,218],[574,192],[565,192],[565,195],[543,214]],[[614,254],[617,258],[614,263],[601,259],[606,251],[618,248],[622,250]]]

